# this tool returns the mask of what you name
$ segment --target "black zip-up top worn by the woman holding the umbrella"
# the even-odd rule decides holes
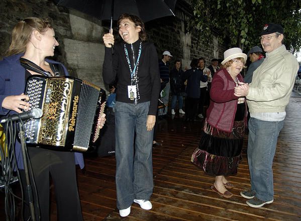
[[[134,103],[128,97],[128,85],[131,85],[131,73],[129,64],[126,59],[124,45],[128,49],[129,59],[132,65],[136,63],[140,40],[133,43],[134,57],[131,49],[131,44],[119,43],[114,46],[114,54],[112,55],[111,48],[105,48],[105,60],[103,65],[103,78],[105,83],[111,84],[118,79],[116,101],[125,103]],[[141,56],[138,66],[139,77],[139,93],[140,99],[138,103],[150,101],[148,115],[156,115],[158,108],[158,97],[160,92],[160,75],[158,67],[158,55],[156,48],[152,43],[142,42]]]

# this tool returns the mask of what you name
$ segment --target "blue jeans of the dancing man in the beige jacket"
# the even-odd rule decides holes
[[[248,163],[251,190],[263,201],[270,201],[274,196],[272,165],[283,124],[284,121],[249,120]]]

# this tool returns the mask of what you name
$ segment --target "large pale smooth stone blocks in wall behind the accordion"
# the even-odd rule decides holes
[[[105,45],[102,44],[103,27],[101,22],[88,21],[81,13],[70,10],[71,38],[64,38],[66,63],[76,72],[78,78],[105,88],[102,68]]]

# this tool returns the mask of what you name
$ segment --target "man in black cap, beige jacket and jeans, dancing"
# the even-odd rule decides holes
[[[278,135],[283,127],[285,106],[299,65],[283,42],[283,28],[265,24],[260,41],[266,58],[254,71],[252,83],[235,87],[236,96],[246,96],[250,110],[248,164],[251,189],[240,194],[251,207],[274,201],[273,158]]]

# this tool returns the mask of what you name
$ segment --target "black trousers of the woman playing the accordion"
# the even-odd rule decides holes
[[[37,187],[36,195],[33,181],[31,180],[31,185],[34,192],[34,200],[38,199],[40,208],[39,209],[37,207],[37,203],[35,203],[36,220],[49,220],[49,175],[51,175],[54,184],[57,204],[57,220],[83,220],[80,199],[77,190],[74,153],[33,147],[28,147],[28,153],[30,156],[30,161],[34,173],[34,180]],[[25,189],[25,172],[24,170],[20,170],[20,173],[23,188]],[[28,202],[27,196],[25,198]],[[39,219],[38,216],[39,211],[41,219]],[[29,207],[25,205],[25,220],[28,219],[29,214]]]

